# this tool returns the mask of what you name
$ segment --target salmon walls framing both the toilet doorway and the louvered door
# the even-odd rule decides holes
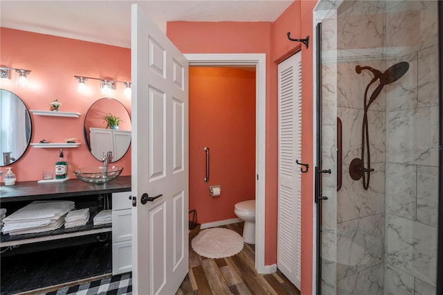
[[[287,39],[313,38],[312,10],[317,1],[294,1],[271,22],[168,22],[167,35],[183,53],[266,53],[265,265],[277,262],[278,114],[277,64],[302,51],[302,161],[312,163],[313,48]],[[313,174],[302,175],[301,293],[312,294]]]

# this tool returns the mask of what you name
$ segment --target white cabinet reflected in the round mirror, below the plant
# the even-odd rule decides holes
[[[89,136],[91,154],[96,159],[102,159],[103,152],[109,151],[112,152],[114,159],[120,159],[131,143],[131,132],[127,130],[90,127]]]

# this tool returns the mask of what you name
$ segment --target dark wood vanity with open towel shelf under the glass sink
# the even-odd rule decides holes
[[[94,226],[93,217],[98,211],[111,209],[116,195],[127,199],[125,204],[130,204],[130,191],[130,176],[120,176],[107,184],[88,184],[78,179],[63,183],[21,181],[15,186],[2,184],[0,207],[7,209],[7,216],[35,200],[50,199],[74,201],[76,208],[90,208],[91,216],[85,226],[72,229],[62,226],[43,233],[1,233],[1,294],[110,274],[112,224]],[[39,279],[35,280],[35,277]]]

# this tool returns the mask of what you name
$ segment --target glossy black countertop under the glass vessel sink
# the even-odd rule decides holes
[[[16,202],[57,197],[76,197],[131,190],[131,177],[120,176],[106,184],[89,184],[79,179],[61,183],[38,184],[37,181],[17,181],[14,186],[0,186],[0,202]]]

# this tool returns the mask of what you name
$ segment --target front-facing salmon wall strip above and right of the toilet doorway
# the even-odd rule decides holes
[[[266,180],[265,180],[265,265],[273,265],[277,254],[277,102],[271,93],[272,23],[267,21],[170,21],[169,39],[183,53],[265,53],[266,54]],[[212,209],[212,208],[210,208]]]

